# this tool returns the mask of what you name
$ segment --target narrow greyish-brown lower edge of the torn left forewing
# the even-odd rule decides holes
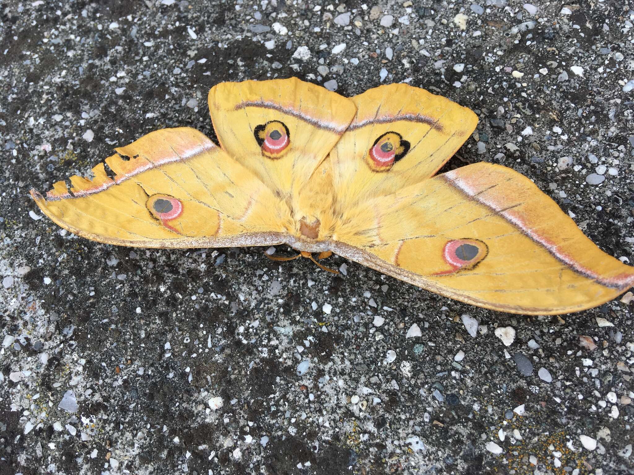
[[[113,244],[115,246],[129,246],[136,248],[158,248],[158,249],[192,249],[192,248],[230,248],[233,246],[276,246],[283,244],[288,239],[287,234],[282,232],[249,232],[244,234],[234,234],[226,238],[188,238],[179,236],[174,239],[150,239],[147,241],[129,241],[126,239],[109,238],[101,234],[83,231],[74,227],[64,220],[59,219],[46,208],[46,200],[39,191],[30,190],[30,195],[51,221],[63,229],[72,232],[81,238],[91,239],[103,244]]]

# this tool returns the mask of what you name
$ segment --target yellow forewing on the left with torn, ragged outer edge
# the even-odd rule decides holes
[[[31,190],[51,220],[78,236],[120,246],[193,248],[280,243],[286,206],[198,130],[150,132],[116,148],[93,179]]]

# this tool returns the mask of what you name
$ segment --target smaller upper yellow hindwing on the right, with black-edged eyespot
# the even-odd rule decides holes
[[[381,85],[351,101],[356,115],[329,158],[342,206],[431,177],[477,125],[468,108],[408,84]]]

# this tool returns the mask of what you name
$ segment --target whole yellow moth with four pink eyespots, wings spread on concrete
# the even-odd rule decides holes
[[[449,99],[406,84],[344,98],[275,79],[217,84],[209,110],[219,146],[188,127],[156,130],[92,179],[31,196],[101,243],[288,244],[501,312],[576,312],[634,284],[634,268],[524,175],[490,163],[436,175],[477,124]]]

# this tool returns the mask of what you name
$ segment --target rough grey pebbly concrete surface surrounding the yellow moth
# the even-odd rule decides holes
[[[579,4],[1,3],[0,473],[631,473],[631,303],[521,317],[337,257],[117,248],[27,194],[151,130],[215,139],[223,80],[409,80],[479,115],[445,170],[512,167],[632,261],[634,12]]]

